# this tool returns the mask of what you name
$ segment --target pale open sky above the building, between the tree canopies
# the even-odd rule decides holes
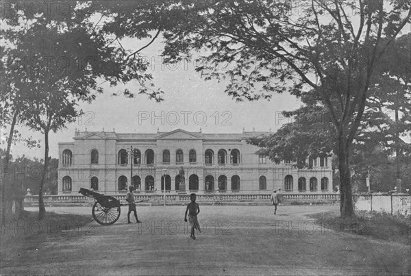
[[[139,45],[133,45],[138,43]],[[144,42],[128,41],[128,47],[140,48]],[[138,85],[110,87],[102,84],[105,92],[92,103],[80,103],[84,111],[74,123],[56,133],[49,134],[49,155],[58,158],[58,142],[72,142],[75,129],[80,131],[113,131],[116,133],[155,133],[159,131],[201,131],[203,133],[241,133],[245,131],[272,131],[278,129],[288,119],[283,118],[283,110],[299,108],[299,100],[288,93],[273,95],[271,101],[243,101],[237,103],[225,94],[227,83],[204,81],[200,73],[194,71],[191,63],[181,62],[175,66],[162,63],[160,41],[153,43],[142,52],[151,61],[149,72],[154,84],[164,90],[164,101],[156,103],[146,95],[138,95]],[[136,97],[128,99],[112,96],[124,88],[135,92]],[[25,127],[18,127],[23,136],[41,139],[41,147],[27,149],[18,143],[12,146],[14,158],[25,155],[29,158],[44,157],[43,135]],[[7,133],[1,134],[2,139]],[[5,147],[3,144],[2,147]]]

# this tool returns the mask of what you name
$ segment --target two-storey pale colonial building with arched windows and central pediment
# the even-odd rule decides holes
[[[77,194],[79,188],[92,188],[117,195],[132,184],[140,193],[161,193],[164,188],[176,193],[181,168],[187,192],[332,192],[330,158],[308,158],[305,169],[290,162],[274,164],[256,154],[258,147],[247,144],[248,138],[268,134],[75,131],[74,142],[58,144],[58,192]]]

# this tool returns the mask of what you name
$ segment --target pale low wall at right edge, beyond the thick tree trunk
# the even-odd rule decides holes
[[[387,212],[390,214],[411,214],[411,195],[357,195],[354,197],[355,208],[358,211]]]

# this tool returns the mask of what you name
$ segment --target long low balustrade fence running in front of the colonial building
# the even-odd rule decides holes
[[[124,195],[112,195],[116,199],[125,202]],[[270,203],[271,194],[256,194],[256,193],[213,193],[213,194],[199,194],[197,195],[197,202],[199,203],[240,203],[240,202],[260,202]],[[153,205],[162,204],[164,202],[164,194],[135,194],[136,201],[147,201]],[[335,203],[340,200],[340,195],[335,193],[321,193],[321,194],[302,194],[302,193],[283,193],[280,194],[281,202],[284,204],[303,204],[303,203]],[[44,195],[45,205],[61,205],[61,204],[92,204],[94,199],[84,197],[83,195]],[[184,195],[166,194],[166,204],[186,203],[190,201],[190,193]],[[25,205],[37,205],[38,196],[26,196]]]

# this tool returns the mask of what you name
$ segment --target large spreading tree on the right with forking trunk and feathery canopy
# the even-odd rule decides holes
[[[350,150],[362,123],[375,68],[410,23],[409,1],[193,1],[171,5],[179,20],[164,30],[167,62],[203,62],[206,79],[228,78],[237,100],[301,96],[315,90],[334,128],[340,214],[352,216]],[[301,3],[301,2],[299,2]],[[227,70],[221,70],[229,64]],[[227,68],[227,66],[225,66]]]

